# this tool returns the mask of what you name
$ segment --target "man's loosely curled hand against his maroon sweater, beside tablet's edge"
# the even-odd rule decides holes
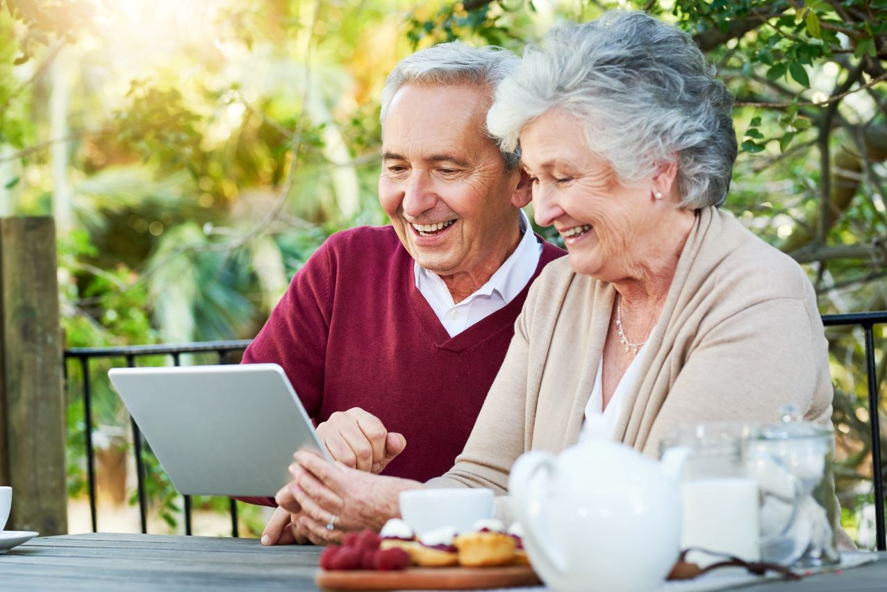
[[[406,448],[402,434],[359,407],[336,411],[318,425],[318,436],[335,460],[358,471],[380,473]]]

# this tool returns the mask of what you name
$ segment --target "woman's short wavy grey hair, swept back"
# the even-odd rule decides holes
[[[585,125],[590,151],[621,183],[677,155],[680,206],[720,206],[736,160],[733,97],[689,35],[644,12],[553,29],[498,85],[487,128],[507,150],[550,110]]]

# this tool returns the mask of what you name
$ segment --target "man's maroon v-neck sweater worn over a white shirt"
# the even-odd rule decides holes
[[[532,279],[565,254],[543,243]],[[505,359],[530,284],[455,337],[416,289],[393,228],[334,234],[295,274],[243,362],[277,362],[316,423],[360,407],[401,432],[384,474],[425,481],[450,469]]]

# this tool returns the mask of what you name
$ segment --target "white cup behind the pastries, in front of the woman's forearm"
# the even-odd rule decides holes
[[[492,518],[493,490],[410,489],[400,493],[400,515],[418,536],[437,528],[471,530],[478,520]]]

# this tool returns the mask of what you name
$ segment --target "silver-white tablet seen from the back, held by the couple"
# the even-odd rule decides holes
[[[278,364],[114,368],[114,388],[187,495],[273,497],[300,448],[332,461]]]

